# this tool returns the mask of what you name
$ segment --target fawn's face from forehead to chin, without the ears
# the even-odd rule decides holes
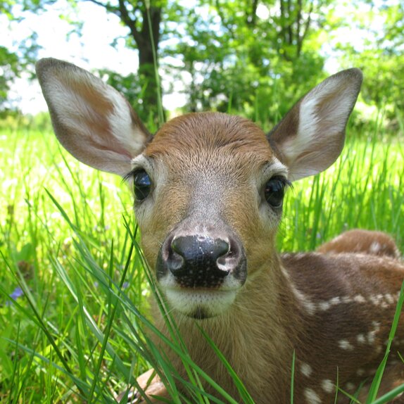
[[[282,213],[287,170],[265,134],[230,115],[185,115],[157,132],[131,176],[144,254],[170,305],[222,313],[265,263]]]

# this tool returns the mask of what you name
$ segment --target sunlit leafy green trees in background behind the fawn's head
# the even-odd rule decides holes
[[[361,120],[376,122],[381,107],[392,133],[403,131],[404,11],[400,1],[375,6],[361,0],[173,0],[93,1],[117,15],[128,29],[128,47],[139,54],[139,70],[127,77],[106,72],[143,120],[163,120],[160,77],[170,93],[182,83],[187,111],[241,113],[271,127],[299,96],[340,67],[362,68]],[[54,0],[9,0],[0,8],[23,23],[24,13],[46,13]],[[77,1],[60,18],[80,35]],[[352,35],[349,33],[352,32]],[[31,71],[35,34],[18,50],[0,48],[0,103],[21,71]],[[118,38],[114,41],[118,43]],[[114,44],[113,43],[113,44]],[[94,66],[96,68],[96,66]]]

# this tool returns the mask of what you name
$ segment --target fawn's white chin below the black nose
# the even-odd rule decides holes
[[[177,312],[203,320],[224,313],[234,302],[236,291],[166,289],[165,295]]]

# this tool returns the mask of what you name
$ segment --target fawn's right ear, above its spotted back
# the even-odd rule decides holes
[[[329,168],[345,140],[346,123],[362,84],[362,72],[348,69],[306,94],[268,134],[294,181]]]

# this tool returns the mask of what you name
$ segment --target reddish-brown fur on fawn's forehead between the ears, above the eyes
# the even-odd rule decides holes
[[[158,130],[144,152],[151,158],[171,160],[170,165],[248,159],[262,165],[273,158],[265,133],[250,120],[225,113],[189,113]],[[240,161],[241,163],[241,161]]]

